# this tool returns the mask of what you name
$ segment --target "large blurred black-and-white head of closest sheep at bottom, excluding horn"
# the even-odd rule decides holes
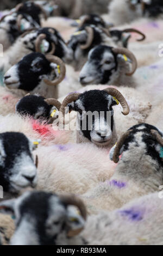
[[[18,199],[3,201],[0,212],[15,215],[11,245],[61,245],[63,241],[70,242],[68,231],[83,229],[85,225],[75,206],[46,192],[26,192]]]

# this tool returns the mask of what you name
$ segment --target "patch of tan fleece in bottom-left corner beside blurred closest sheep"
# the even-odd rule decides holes
[[[15,225],[10,216],[0,214],[0,245],[9,245],[14,235]]]

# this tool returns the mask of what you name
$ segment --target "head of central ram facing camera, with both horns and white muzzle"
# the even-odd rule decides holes
[[[96,99],[96,100],[95,100]],[[67,124],[65,111],[77,111],[77,142],[92,142],[97,147],[111,147],[116,142],[112,106],[121,103],[123,115],[129,114],[124,96],[115,88],[89,90],[82,94],[72,93],[61,104],[59,125]]]

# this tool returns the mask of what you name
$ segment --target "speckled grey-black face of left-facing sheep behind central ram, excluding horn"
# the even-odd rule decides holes
[[[117,56],[111,47],[99,45],[89,52],[88,60],[80,71],[80,83],[105,84],[114,80],[118,68]]]

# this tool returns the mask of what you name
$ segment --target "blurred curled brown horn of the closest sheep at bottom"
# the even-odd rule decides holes
[[[83,201],[80,198],[72,195],[72,196],[60,196],[60,199],[66,205],[77,206],[77,208],[80,211],[80,214],[86,221],[86,216],[87,216],[86,208],[85,208]],[[77,230],[68,230],[67,236],[72,237],[72,236],[78,235],[82,230],[83,230],[83,228],[80,228]]]

